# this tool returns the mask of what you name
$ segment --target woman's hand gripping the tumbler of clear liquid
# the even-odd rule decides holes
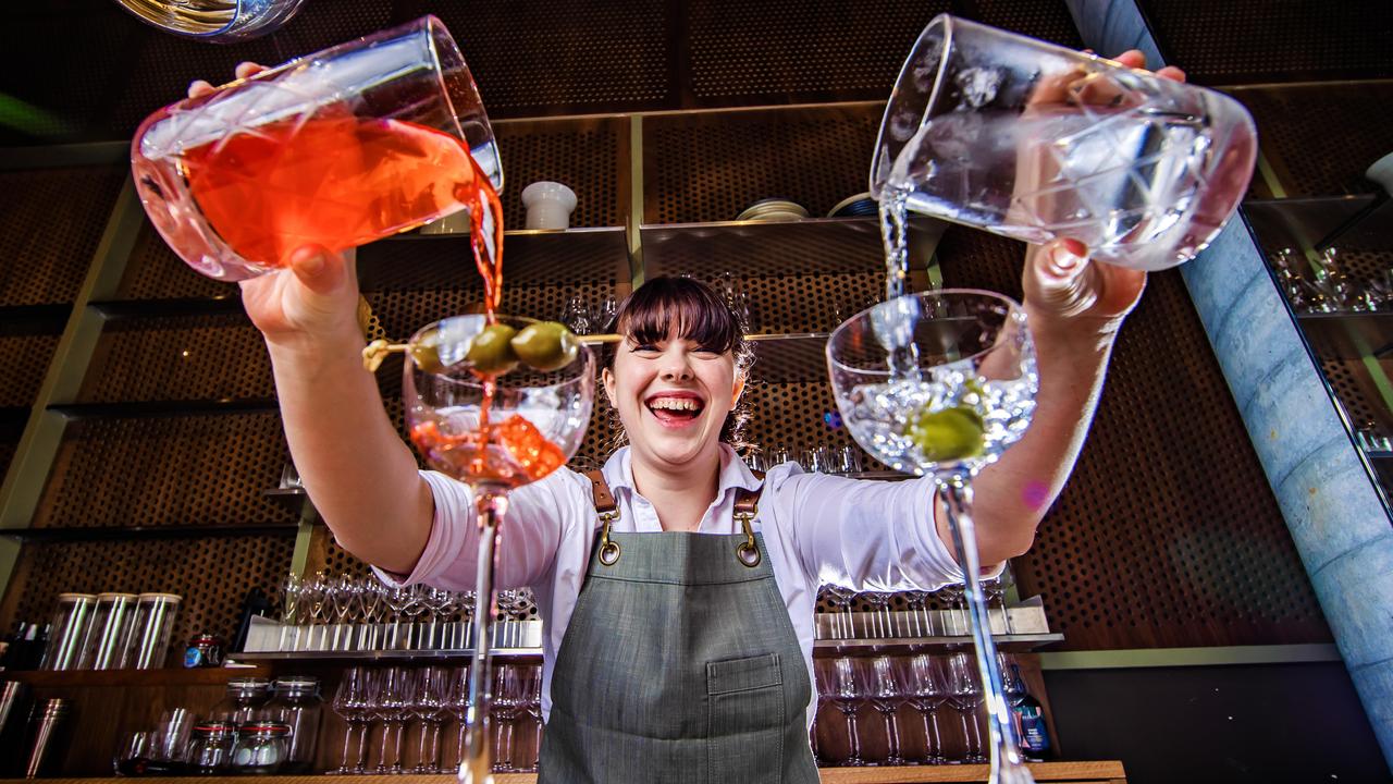
[[[1117,61],[1128,68],[1142,68],[1146,57],[1134,49],[1119,56]],[[1156,75],[1185,81],[1185,73],[1176,67],[1162,68]],[[1106,103],[1109,96],[1094,95],[1094,88],[1074,91],[1068,100]],[[1060,95],[1055,98],[1066,100],[1063,93],[1067,91],[1068,85],[1060,85]],[[1137,307],[1145,287],[1145,272],[1094,264],[1088,248],[1078,240],[1031,246],[1025,254],[1024,290],[1031,332],[1046,339],[1081,336],[1096,340],[1116,333]]]

